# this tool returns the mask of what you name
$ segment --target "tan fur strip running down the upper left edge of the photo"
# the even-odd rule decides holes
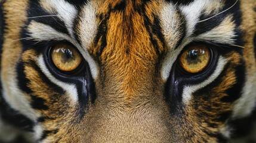
[[[2,66],[7,67],[1,71],[2,77],[6,78],[2,80],[5,81],[8,81],[10,76],[14,76],[16,74],[14,69],[21,54],[21,44],[18,39],[20,39],[19,33],[21,26],[23,26],[24,21],[26,20],[26,6],[26,0],[17,2],[7,1],[4,4],[5,11],[9,11],[9,13],[5,15],[5,17],[8,18],[6,26],[9,30],[4,36],[5,41],[2,49],[3,53],[1,61]],[[17,20],[19,23],[17,23]]]

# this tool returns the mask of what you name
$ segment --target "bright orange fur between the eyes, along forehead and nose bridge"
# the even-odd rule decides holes
[[[115,88],[131,97],[152,86],[159,55],[152,43],[152,29],[147,25],[153,25],[153,19],[145,18],[146,11],[136,11],[131,1],[125,3],[123,10],[109,14],[100,72],[106,74],[106,81],[113,81],[118,85]]]

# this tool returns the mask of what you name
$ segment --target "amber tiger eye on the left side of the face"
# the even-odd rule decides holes
[[[61,71],[73,71],[82,62],[82,56],[70,45],[58,44],[53,46],[51,51],[51,60]]]

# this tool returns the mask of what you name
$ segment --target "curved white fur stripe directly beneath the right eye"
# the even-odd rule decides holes
[[[209,85],[209,83],[213,82],[223,71],[223,68],[226,64],[226,60],[223,57],[220,57],[218,59],[218,64],[216,69],[214,70],[214,73],[211,74],[211,76],[208,77],[208,79],[205,79],[202,83],[199,83],[198,85],[187,85],[183,89],[183,102],[185,104],[189,104],[190,99],[192,98],[192,94],[195,91],[198,91],[198,89],[201,89],[205,87],[206,85]]]

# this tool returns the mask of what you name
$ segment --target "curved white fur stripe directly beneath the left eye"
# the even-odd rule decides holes
[[[60,86],[64,91],[69,94],[69,97],[73,102],[78,101],[78,91],[76,89],[76,85],[70,84],[70,83],[65,83],[61,82],[60,80],[56,79],[50,71],[47,69],[47,66],[45,65],[44,62],[44,57],[42,55],[39,55],[38,61],[37,61],[39,67],[41,68],[42,72],[45,74],[45,76],[48,77],[48,79],[51,80],[54,84]]]

